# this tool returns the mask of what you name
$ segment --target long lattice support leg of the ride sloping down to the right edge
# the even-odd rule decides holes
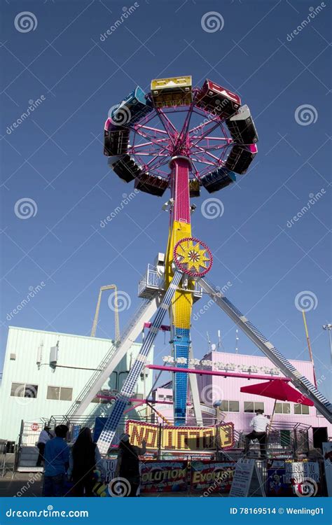
[[[322,395],[317,388],[310,381],[307,380],[296,368],[289,363],[289,360],[284,358],[282,354],[273,346],[273,344],[245,317],[240,310],[238,310],[230,300],[227,299],[223,293],[214,286],[207,279],[198,279],[198,283],[203,290],[209,294],[214,302],[226,312],[226,314],[244,331],[244,333],[251,339],[256,346],[258,346],[265,356],[267,356],[272,363],[274,363],[279,370],[282,371],[286,377],[290,377],[292,383],[298,390],[307,398],[312,400],[314,406],[319,412],[332,422],[332,404],[324,395]]]

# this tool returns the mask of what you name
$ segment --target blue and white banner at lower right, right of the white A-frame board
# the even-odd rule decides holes
[[[267,496],[321,496],[319,463],[268,461]]]

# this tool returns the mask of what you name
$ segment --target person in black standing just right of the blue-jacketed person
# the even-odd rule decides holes
[[[95,484],[93,471],[96,465],[102,468],[101,463],[102,458],[97,444],[92,441],[90,428],[82,428],[69,458],[68,477],[73,481],[73,496],[93,496],[92,488]]]

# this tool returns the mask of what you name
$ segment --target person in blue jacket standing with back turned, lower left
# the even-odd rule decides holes
[[[69,447],[65,442],[66,425],[55,427],[55,437],[46,442],[44,451],[45,472],[43,496],[64,496],[64,476],[69,468]]]

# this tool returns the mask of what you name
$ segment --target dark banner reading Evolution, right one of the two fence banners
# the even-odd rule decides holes
[[[203,496],[229,492],[235,464],[235,461],[192,461],[191,492]]]

